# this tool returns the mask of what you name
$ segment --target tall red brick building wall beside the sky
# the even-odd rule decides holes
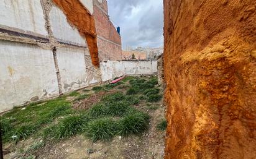
[[[99,3],[98,0],[94,0],[93,16],[98,36],[100,61],[121,60],[121,36],[117,33],[116,28],[109,20],[106,0],[103,0],[102,3]]]

